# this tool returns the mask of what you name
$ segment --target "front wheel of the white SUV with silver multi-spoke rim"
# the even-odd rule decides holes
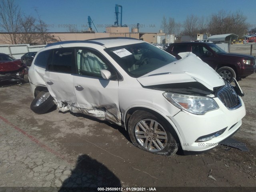
[[[172,126],[149,112],[135,111],[128,122],[128,133],[132,143],[142,150],[168,156],[178,151],[178,140],[173,136]]]

